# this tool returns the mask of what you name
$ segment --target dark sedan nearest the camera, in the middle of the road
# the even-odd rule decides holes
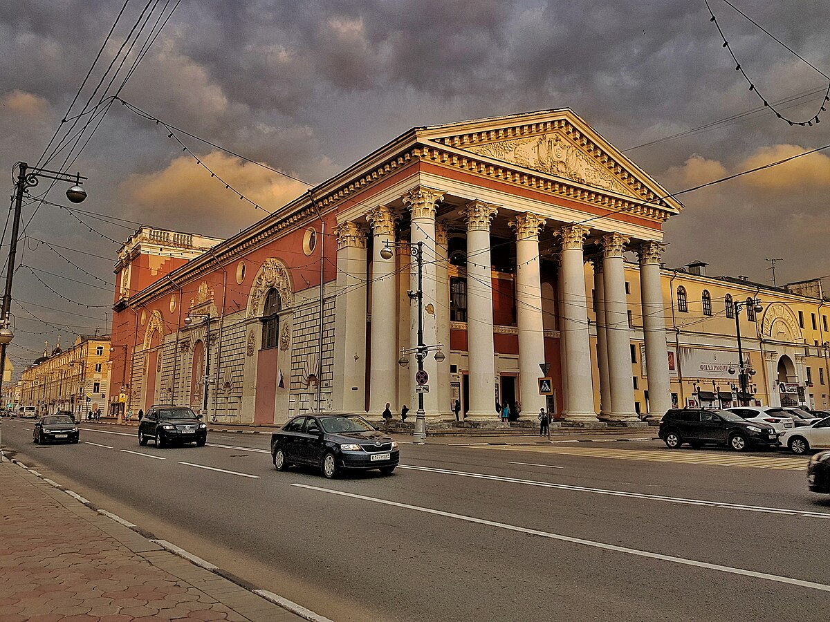
[[[291,464],[320,467],[327,479],[342,469],[378,469],[391,474],[398,466],[398,443],[359,415],[300,415],[271,434],[271,457],[278,471]]]

